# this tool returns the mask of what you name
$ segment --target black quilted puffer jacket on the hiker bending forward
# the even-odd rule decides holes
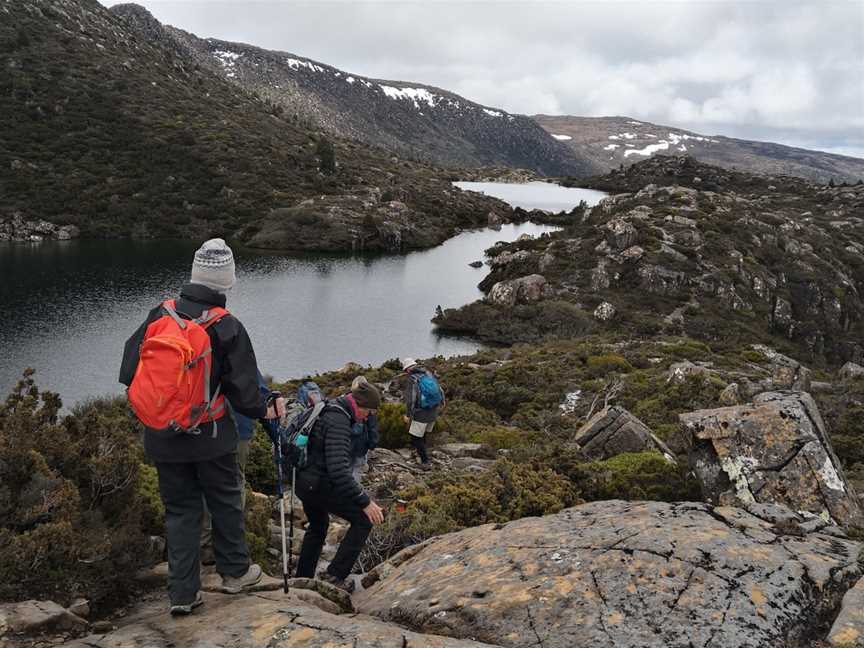
[[[351,473],[351,429],[356,423],[353,408],[344,397],[328,403],[309,437],[311,465],[298,475],[301,491],[305,485],[339,502],[360,508],[369,505],[369,496]]]

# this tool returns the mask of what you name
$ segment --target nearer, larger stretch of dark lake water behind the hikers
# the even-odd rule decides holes
[[[554,229],[525,223],[465,232],[405,256],[283,256],[235,248],[237,285],[228,308],[249,330],[262,371],[282,379],[349,361],[472,353],[478,343],[434,332],[435,307],[481,296],[477,284],[488,268],[468,263],[482,259],[486,248]],[[26,367],[66,404],[120,393],[123,343],[150,308],[176,295],[199,244],[0,244],[0,394]]]

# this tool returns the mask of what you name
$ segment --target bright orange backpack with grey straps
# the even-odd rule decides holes
[[[129,386],[129,404],[147,427],[169,436],[199,434],[201,423],[225,411],[225,398],[210,394],[213,349],[207,328],[228,314],[213,307],[197,319],[183,319],[174,300],[162,303],[165,314],[144,333],[138,367]],[[216,436],[216,426],[213,426]]]

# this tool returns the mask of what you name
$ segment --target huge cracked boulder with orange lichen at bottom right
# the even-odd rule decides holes
[[[354,597],[418,632],[544,648],[740,648],[827,633],[860,544],[703,503],[606,501],[429,541]],[[783,519],[777,524],[773,519]]]

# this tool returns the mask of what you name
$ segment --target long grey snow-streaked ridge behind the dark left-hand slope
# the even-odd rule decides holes
[[[225,79],[337,137],[446,166],[509,166],[547,175],[601,169],[575,155],[530,118],[481,106],[428,85],[370,79],[310,59],[164,27],[145,9],[112,11]]]

